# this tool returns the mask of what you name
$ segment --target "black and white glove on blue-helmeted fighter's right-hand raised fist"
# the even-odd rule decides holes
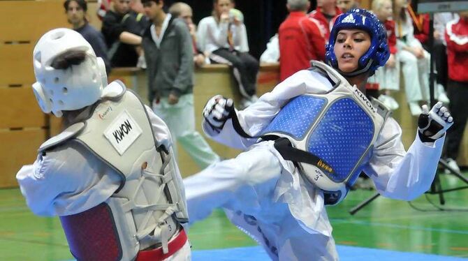
[[[453,118],[447,108],[439,101],[427,110],[427,105],[423,105],[423,113],[418,119],[418,134],[423,142],[434,142],[439,137],[444,136],[446,130],[453,124]]]

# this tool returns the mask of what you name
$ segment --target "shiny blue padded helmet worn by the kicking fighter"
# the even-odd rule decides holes
[[[360,57],[358,69],[352,73],[341,72],[343,75],[354,76],[365,72],[370,72],[373,75],[377,68],[386,64],[388,57],[390,57],[386,29],[376,15],[360,8],[349,10],[337,17],[330,32],[330,40],[326,45],[325,59],[327,64],[339,70],[333,47],[337,34],[342,29],[361,29],[367,31],[371,37],[369,50]]]

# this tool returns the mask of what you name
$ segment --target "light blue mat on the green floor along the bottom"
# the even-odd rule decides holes
[[[457,261],[467,260],[465,258],[454,258],[443,255],[427,255],[421,253],[409,253],[399,251],[388,251],[374,248],[360,248],[355,246],[337,246],[339,259],[344,261],[362,260],[411,260],[411,261]],[[268,255],[260,246],[245,248],[224,248],[213,250],[192,251],[192,260],[270,260]]]

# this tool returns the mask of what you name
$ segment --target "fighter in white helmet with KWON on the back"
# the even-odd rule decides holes
[[[54,29],[34,48],[34,94],[65,129],[17,173],[41,216],[60,216],[77,260],[189,260],[187,207],[169,130],[80,33]]]

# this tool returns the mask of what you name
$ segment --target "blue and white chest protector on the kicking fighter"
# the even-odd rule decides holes
[[[390,113],[326,64],[314,61],[311,70],[324,73],[335,83],[333,88],[327,94],[293,98],[262,135],[286,137],[295,149],[315,157],[314,164],[296,161],[300,172],[323,190],[327,204],[337,204],[372,156],[373,144]]]

